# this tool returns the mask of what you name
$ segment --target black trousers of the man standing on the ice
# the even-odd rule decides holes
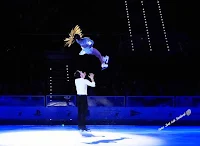
[[[78,107],[78,128],[86,128],[86,116],[88,111],[87,95],[77,95],[77,107]]]

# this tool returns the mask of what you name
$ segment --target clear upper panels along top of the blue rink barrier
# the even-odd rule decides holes
[[[200,96],[88,96],[98,107],[200,107]],[[76,106],[76,95],[0,95],[0,106]]]

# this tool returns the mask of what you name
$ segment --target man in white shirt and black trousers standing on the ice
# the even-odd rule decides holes
[[[74,73],[75,86],[77,92],[77,107],[78,107],[78,129],[82,131],[88,131],[86,127],[86,116],[88,111],[87,101],[87,87],[95,87],[94,74],[90,73],[89,78],[91,81],[85,79],[86,73],[82,71],[76,71]]]

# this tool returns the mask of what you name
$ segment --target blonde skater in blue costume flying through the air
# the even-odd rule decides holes
[[[83,37],[82,30],[77,25],[74,29],[71,30],[69,38],[64,40],[65,46],[70,47],[75,41],[81,46],[82,50],[79,55],[94,55],[101,62],[101,68],[106,69],[108,67],[109,56],[102,56],[101,53],[93,47],[94,41],[89,37]]]

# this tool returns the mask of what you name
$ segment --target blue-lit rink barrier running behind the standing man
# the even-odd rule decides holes
[[[191,109],[191,115],[180,122],[199,123],[199,102],[200,96],[89,96],[87,119],[165,123]],[[76,123],[76,119],[75,95],[0,96],[0,124],[2,121],[16,120]]]

